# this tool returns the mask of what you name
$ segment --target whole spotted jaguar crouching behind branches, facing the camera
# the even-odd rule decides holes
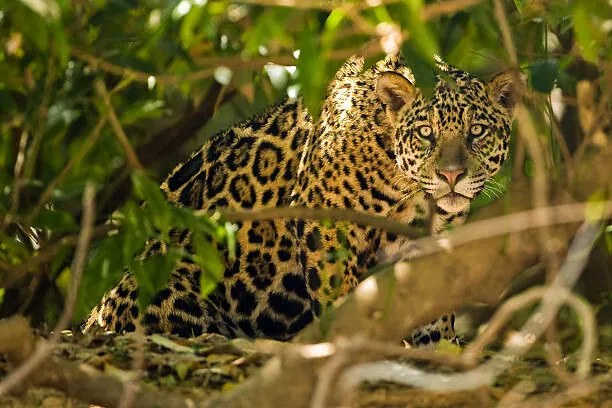
[[[286,100],[214,136],[162,183],[168,200],[204,210],[352,208],[429,222],[433,233],[461,222],[507,155],[508,74],[487,84],[441,64],[426,98],[400,58],[363,65],[354,57],[338,71],[316,124],[300,100]],[[188,231],[172,235],[172,245],[189,249]],[[398,243],[368,226],[304,220],[239,223],[236,238],[236,259],[227,259],[207,299],[199,296],[200,266],[185,257],[142,316],[128,273],[84,330],[129,331],[142,317],[149,331],[288,339],[355,288],[381,249]],[[145,256],[166,245],[149,243]],[[415,342],[452,338],[453,320],[418,329]]]

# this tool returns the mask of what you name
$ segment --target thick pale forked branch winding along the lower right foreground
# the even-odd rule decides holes
[[[519,295],[519,300],[514,301],[514,307],[531,303],[537,298],[542,299],[542,304],[523,325],[520,333],[513,336],[504,349],[493,356],[490,361],[460,374],[432,374],[407,364],[389,361],[360,364],[343,373],[342,385],[353,387],[363,381],[393,381],[428,390],[458,391],[491,384],[511,364],[513,358],[524,355],[531,348],[553,321],[562,303],[572,306],[582,318],[584,336],[577,375],[586,378],[590,371],[591,356],[596,344],[595,320],[588,304],[577,298],[569,288],[575,284],[584,268],[598,234],[599,226],[585,223],[577,233],[566,262],[554,282],[547,288],[532,289],[526,294]],[[499,329],[500,322],[507,318],[506,313],[508,310],[504,311],[498,318],[499,320],[494,322],[495,327],[492,331]],[[488,338],[489,334],[486,337]],[[467,356],[470,361],[474,358],[471,353]]]

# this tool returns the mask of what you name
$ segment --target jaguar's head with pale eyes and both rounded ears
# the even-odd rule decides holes
[[[391,73],[381,75],[377,91],[396,123],[399,168],[439,208],[457,213],[508,155],[512,77],[505,72],[483,83],[456,69],[445,74],[431,98]]]

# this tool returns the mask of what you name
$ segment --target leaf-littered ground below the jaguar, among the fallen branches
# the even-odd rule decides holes
[[[134,335],[83,336],[66,332],[55,354],[125,379],[132,369],[131,356],[137,354],[135,339]],[[270,357],[258,349],[261,349],[260,343],[243,339],[228,340],[220,335],[202,335],[193,339],[147,336],[143,381],[164,393],[205,400],[216,393],[229,391],[256,372]],[[536,350],[516,362],[491,387],[436,394],[395,384],[367,384],[360,388],[351,406],[486,407],[515,398],[515,402],[524,404],[517,406],[612,407],[612,353],[609,350],[600,353],[592,364],[592,379],[596,388],[584,393],[575,390],[566,392],[566,387],[559,383],[538,354],[540,352]],[[560,365],[571,363],[570,356]],[[6,362],[0,360],[0,377],[5,373]],[[521,385],[517,386],[519,383]],[[511,393],[511,390],[515,393]],[[91,407],[51,388],[30,388],[19,396],[1,396],[0,406]]]

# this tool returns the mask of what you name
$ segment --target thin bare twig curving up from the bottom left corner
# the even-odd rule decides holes
[[[49,357],[55,343],[61,336],[61,331],[68,326],[72,319],[74,304],[78,292],[83,266],[87,256],[89,242],[91,241],[93,222],[95,219],[94,210],[95,189],[93,184],[88,182],[83,193],[83,219],[81,224],[81,233],[77,242],[76,252],[72,263],[72,282],[68,289],[68,295],[64,303],[64,310],[58,323],[53,330],[48,342],[40,342],[34,350],[34,353],[24,361],[15,371],[11,372],[0,383],[0,395],[7,393],[9,390],[19,385],[26,379],[40,364]]]

